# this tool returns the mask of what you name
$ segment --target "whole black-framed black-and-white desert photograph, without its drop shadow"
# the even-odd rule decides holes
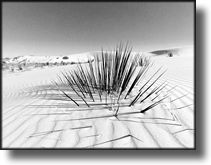
[[[3,149],[194,149],[195,2],[3,2]]]

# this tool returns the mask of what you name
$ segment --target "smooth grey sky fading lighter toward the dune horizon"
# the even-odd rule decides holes
[[[3,2],[3,57],[193,45],[191,2]]]

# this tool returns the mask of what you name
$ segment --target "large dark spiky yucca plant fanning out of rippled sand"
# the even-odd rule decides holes
[[[132,48],[120,44],[115,51],[101,51],[94,55],[94,61],[77,64],[75,69],[61,73],[59,82],[55,82],[63,96],[76,106],[107,106],[118,115],[119,107],[143,103],[155,95],[164,84],[156,82],[164,74],[161,68],[145,80],[151,67],[148,58],[132,54]],[[145,83],[143,83],[145,82]],[[131,95],[136,91],[135,95]],[[140,110],[141,113],[157,106],[165,98],[152,102]]]

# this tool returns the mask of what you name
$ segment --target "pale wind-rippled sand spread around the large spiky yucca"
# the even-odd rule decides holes
[[[76,109],[49,90],[74,65],[3,72],[3,147],[193,148],[193,54],[152,60],[168,69],[158,83],[167,80],[169,99],[145,114],[124,115],[140,107],[121,108],[118,118],[102,107]]]

